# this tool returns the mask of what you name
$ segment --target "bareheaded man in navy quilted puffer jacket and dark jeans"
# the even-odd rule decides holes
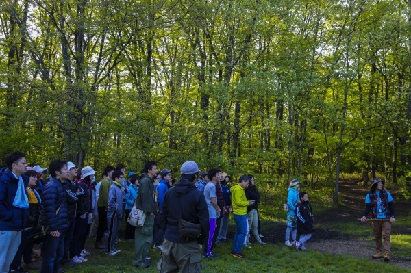
[[[50,163],[51,180],[45,185],[42,195],[40,224],[47,228],[47,237],[42,244],[41,273],[55,273],[64,255],[64,235],[69,229],[66,196],[62,182],[69,176],[66,161]]]

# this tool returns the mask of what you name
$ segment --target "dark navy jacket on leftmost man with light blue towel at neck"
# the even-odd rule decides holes
[[[24,188],[29,184],[29,178],[23,175]],[[27,221],[27,209],[14,207],[14,196],[18,188],[18,179],[11,170],[6,169],[0,174],[0,231],[21,231]],[[27,190],[26,190],[27,194]]]

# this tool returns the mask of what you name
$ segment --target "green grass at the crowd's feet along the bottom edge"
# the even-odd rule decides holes
[[[397,237],[399,236],[399,237]],[[394,243],[396,255],[410,249],[410,236],[395,235],[394,241],[400,240],[401,244]],[[92,246],[90,243],[89,246]],[[399,268],[383,262],[373,262],[368,259],[356,259],[349,256],[333,256],[309,250],[308,252],[296,252],[293,248],[287,248],[280,244],[260,246],[252,244],[251,249],[244,249],[246,259],[238,259],[229,255],[232,241],[218,244],[215,252],[219,257],[215,260],[203,259],[203,272],[401,272],[411,270]],[[114,257],[105,255],[103,251],[93,251],[88,257],[88,262],[77,265],[75,268],[64,268],[67,273],[113,273],[113,272],[157,272],[156,264],[160,258],[158,250],[151,250],[152,264],[150,268],[134,268],[132,259],[134,255],[133,242],[121,242],[118,244],[121,250]]]

